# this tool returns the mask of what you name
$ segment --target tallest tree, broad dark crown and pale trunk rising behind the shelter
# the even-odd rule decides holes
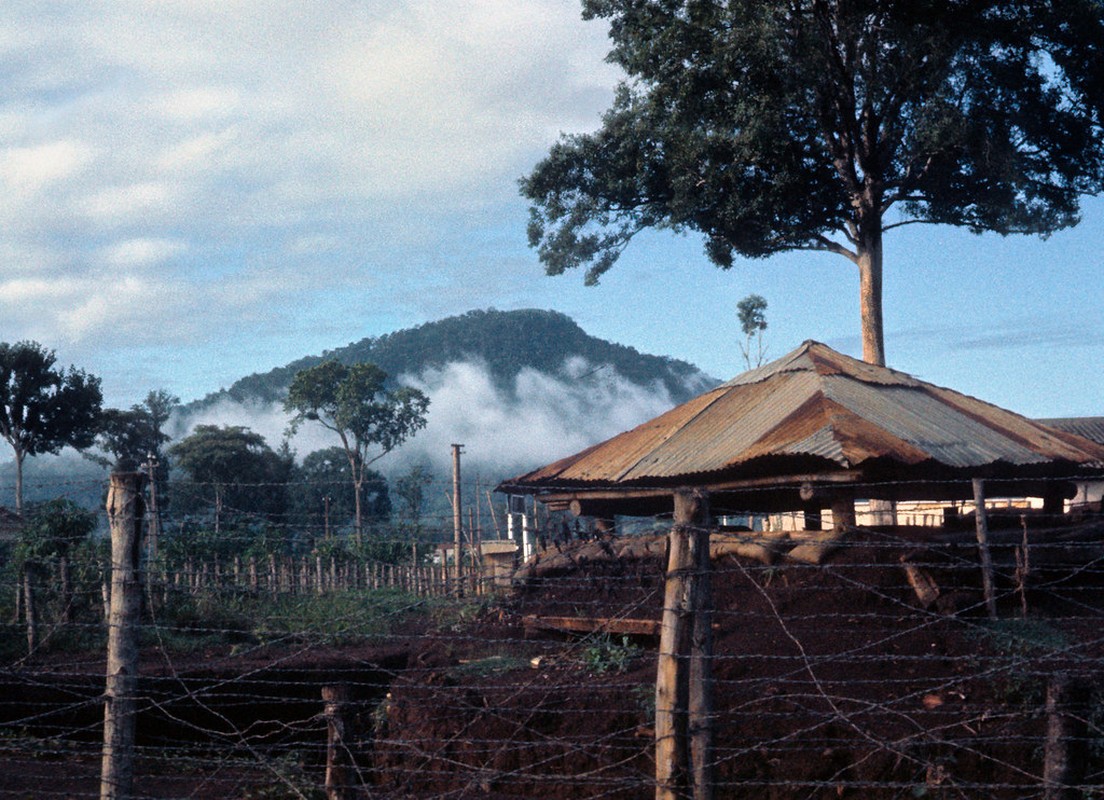
[[[584,0],[627,79],[522,180],[549,274],[594,284],[645,228],[709,257],[839,254],[884,364],[882,235],[1047,235],[1104,183],[1100,0]]]

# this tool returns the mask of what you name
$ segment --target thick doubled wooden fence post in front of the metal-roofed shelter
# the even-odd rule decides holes
[[[656,800],[712,797],[708,495],[675,493],[656,669]],[[704,573],[704,575],[702,574]],[[693,685],[692,685],[693,684]]]

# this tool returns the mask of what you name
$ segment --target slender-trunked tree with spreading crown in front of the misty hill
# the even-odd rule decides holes
[[[429,398],[410,386],[391,387],[388,373],[363,362],[338,361],[301,370],[291,380],[284,409],[293,414],[289,433],[317,422],[337,434],[349,463],[353,494],[353,532],[362,541],[363,489],[368,467],[425,427]]]

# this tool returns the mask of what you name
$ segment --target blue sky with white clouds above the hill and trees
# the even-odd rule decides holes
[[[859,354],[838,256],[709,265],[636,242],[596,288],[526,245],[524,174],[593,129],[617,74],[577,0],[113,0],[0,7],[0,341],[193,399],[252,372],[473,308],[742,369]],[[914,226],[887,243],[892,366],[1033,416],[1104,415],[1104,202],[1043,242]]]

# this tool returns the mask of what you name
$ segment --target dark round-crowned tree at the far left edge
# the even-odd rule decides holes
[[[71,366],[38,342],[0,342],[0,436],[15,456],[15,511],[23,512],[23,460],[92,445],[103,394],[99,378]]]

